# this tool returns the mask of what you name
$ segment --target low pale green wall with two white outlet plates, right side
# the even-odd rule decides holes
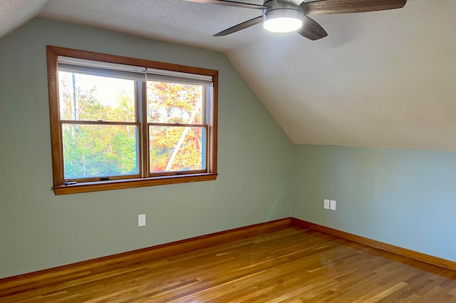
[[[456,261],[456,153],[296,145],[294,161],[293,217]]]

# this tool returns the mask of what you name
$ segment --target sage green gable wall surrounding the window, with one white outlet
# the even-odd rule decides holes
[[[53,195],[46,45],[219,70],[218,179]],[[0,277],[291,213],[294,146],[222,53],[33,19],[0,38],[0,129]]]

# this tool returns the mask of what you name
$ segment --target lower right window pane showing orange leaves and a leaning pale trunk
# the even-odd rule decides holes
[[[151,173],[204,170],[205,128],[149,127]]]

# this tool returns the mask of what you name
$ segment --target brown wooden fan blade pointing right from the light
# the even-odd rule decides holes
[[[406,3],[407,0],[322,0],[304,2],[301,8],[306,15],[350,14],[400,9]]]

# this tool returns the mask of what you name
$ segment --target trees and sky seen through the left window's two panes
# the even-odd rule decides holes
[[[61,120],[135,120],[134,81],[59,72]],[[98,89],[122,85],[117,96],[97,98]],[[105,88],[106,89],[106,88]],[[113,91],[110,91],[112,94]],[[138,174],[135,125],[64,123],[63,168],[66,179]]]

